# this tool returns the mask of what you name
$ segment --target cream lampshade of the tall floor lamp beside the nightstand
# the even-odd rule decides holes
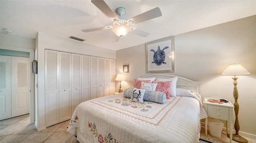
[[[248,75],[250,72],[248,72],[241,64],[229,64],[228,67],[225,69],[224,72],[222,72],[221,75]]]

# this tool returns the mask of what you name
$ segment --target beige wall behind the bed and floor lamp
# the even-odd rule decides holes
[[[251,74],[238,76],[240,134],[256,137],[256,16],[219,24],[175,36],[175,72],[200,81],[202,98],[233,98],[231,76],[222,76],[230,63],[242,64]],[[156,39],[157,40],[157,39]],[[116,51],[116,73],[128,64],[129,73],[122,88],[133,86],[132,80],[145,76],[145,44]],[[118,83],[116,83],[118,90]],[[235,117],[234,117],[235,119]]]

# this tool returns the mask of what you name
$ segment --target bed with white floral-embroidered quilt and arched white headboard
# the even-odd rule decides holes
[[[177,76],[152,74],[142,78],[153,77],[165,81]],[[197,143],[200,119],[207,118],[197,94],[199,82],[178,77],[175,90],[176,97],[164,104],[131,102],[124,97],[127,92],[82,102],[67,131],[80,143]]]

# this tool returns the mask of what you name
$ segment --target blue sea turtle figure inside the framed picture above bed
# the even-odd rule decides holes
[[[168,48],[169,47],[166,46],[166,47],[164,47],[164,49],[160,50],[160,47],[158,46],[157,51],[154,51],[153,49],[151,49],[150,51],[154,52],[152,64],[155,63],[158,66],[160,66],[162,64],[166,64],[166,62],[164,62],[164,60],[165,60],[164,50],[168,49]]]

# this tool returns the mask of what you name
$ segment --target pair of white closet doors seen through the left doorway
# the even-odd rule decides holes
[[[0,55],[0,120],[29,114],[29,57]]]

